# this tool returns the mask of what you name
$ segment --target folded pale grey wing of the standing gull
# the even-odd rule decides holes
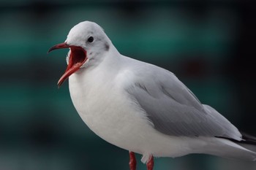
[[[157,131],[170,136],[219,136],[241,140],[238,129],[195,95],[171,72],[140,77],[127,93],[145,110]]]

